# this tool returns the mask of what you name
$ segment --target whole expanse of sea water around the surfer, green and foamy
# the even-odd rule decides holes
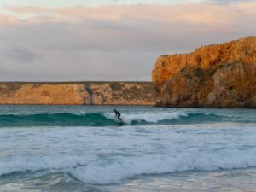
[[[253,109],[0,106],[1,192],[256,191],[255,167]]]

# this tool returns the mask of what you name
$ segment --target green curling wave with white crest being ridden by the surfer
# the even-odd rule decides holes
[[[237,121],[213,113],[122,113],[123,125],[200,124]],[[242,121],[241,121],[242,122]],[[118,126],[113,113],[35,113],[0,115],[0,127],[9,126]]]

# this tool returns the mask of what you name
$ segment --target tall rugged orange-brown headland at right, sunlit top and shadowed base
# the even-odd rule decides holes
[[[158,106],[256,108],[256,37],[162,55],[152,78]]]

